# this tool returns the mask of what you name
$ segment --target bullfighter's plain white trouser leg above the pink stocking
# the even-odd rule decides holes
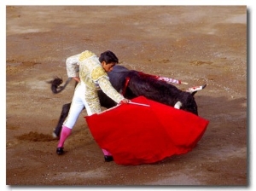
[[[85,101],[85,96],[84,96],[85,91],[86,91],[85,84],[83,82],[80,82],[75,89],[71,107],[67,115],[67,119],[63,123],[63,125],[65,125],[69,129],[73,129],[73,126],[76,124],[77,120],[79,119],[79,114],[83,111],[84,107],[88,115],[92,114],[88,103]]]

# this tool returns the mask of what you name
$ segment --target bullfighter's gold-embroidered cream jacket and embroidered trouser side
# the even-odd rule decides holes
[[[117,92],[109,81],[108,74],[102,67],[98,56],[89,50],[85,50],[79,55],[67,58],[67,76],[73,78],[77,76],[76,67],[79,65],[80,80],[86,85],[84,92],[85,101],[89,104],[92,113],[101,112],[101,106],[97,96],[97,86],[109,96],[113,101],[119,103],[124,96]]]

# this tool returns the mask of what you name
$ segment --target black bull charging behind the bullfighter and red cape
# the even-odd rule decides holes
[[[113,67],[112,72],[108,72],[108,77],[113,88],[122,92],[127,99],[145,96],[150,100],[158,101],[172,107],[174,107],[177,101],[180,101],[182,103],[180,109],[196,115],[198,114],[194,98],[195,92],[190,94],[189,92],[178,90],[177,87],[172,84],[167,84],[155,78],[149,78],[147,75],[141,75],[140,72],[128,70],[119,65]],[[129,79],[128,84],[127,78]],[[53,81],[50,83],[52,84],[52,82]],[[53,84],[51,88],[52,90],[55,89]],[[56,90],[53,90],[53,92],[58,93]],[[102,90],[98,90],[98,96],[102,107],[110,108],[117,104],[104,94]],[[70,106],[71,103],[63,105],[60,119],[54,130],[55,136],[60,136],[61,127],[64,120],[67,118]]]

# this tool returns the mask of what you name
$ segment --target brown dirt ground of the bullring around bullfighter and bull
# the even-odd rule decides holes
[[[247,160],[246,6],[7,6],[6,184],[250,185]],[[80,115],[65,153],[51,136],[73,84],[54,95],[47,81],[67,78],[68,56],[111,49],[138,71],[207,84],[195,95],[210,124],[189,153],[154,165],[103,160]],[[185,90],[189,85],[177,85]]]

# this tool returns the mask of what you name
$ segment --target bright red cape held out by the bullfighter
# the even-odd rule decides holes
[[[143,96],[132,101],[150,107],[122,104],[85,117],[98,145],[112,153],[119,165],[154,163],[174,154],[188,153],[209,123],[193,113]]]

